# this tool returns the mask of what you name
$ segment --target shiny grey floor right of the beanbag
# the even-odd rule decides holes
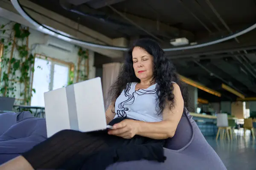
[[[245,139],[239,136],[237,141],[230,142],[220,139],[216,141],[215,136],[206,139],[220,156],[227,170],[256,170],[256,139],[253,140],[249,133]]]

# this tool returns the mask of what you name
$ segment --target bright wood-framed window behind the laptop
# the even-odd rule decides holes
[[[32,96],[31,105],[44,107],[44,92],[66,86],[73,65],[40,54],[35,57],[32,88],[36,93]]]

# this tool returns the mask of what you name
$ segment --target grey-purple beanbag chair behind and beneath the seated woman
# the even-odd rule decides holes
[[[167,159],[163,163],[148,160],[118,162],[107,170],[227,170],[186,109],[164,153]]]

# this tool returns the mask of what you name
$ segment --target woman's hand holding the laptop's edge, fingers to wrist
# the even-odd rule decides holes
[[[139,123],[136,120],[125,119],[122,122],[113,125],[113,129],[108,131],[110,135],[120,136],[125,139],[133,138],[139,129]]]

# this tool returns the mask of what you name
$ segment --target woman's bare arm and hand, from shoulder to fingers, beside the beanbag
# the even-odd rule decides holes
[[[131,119],[113,126],[115,130],[109,131],[109,134],[122,136],[126,139],[134,135],[145,136],[152,139],[167,139],[174,136],[178,123],[183,113],[184,101],[181,95],[180,87],[174,84],[173,94],[175,95],[175,105],[172,110],[169,105],[163,110],[163,121],[161,122],[142,122]]]

